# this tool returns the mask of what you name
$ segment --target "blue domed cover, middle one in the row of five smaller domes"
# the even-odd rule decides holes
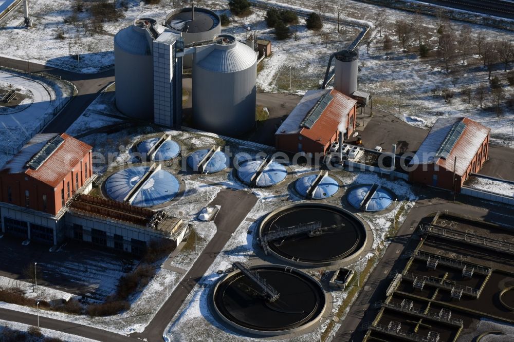
[[[237,176],[246,184],[251,184],[251,178],[259,169],[262,160],[246,161],[237,170]],[[284,165],[277,162],[271,162],[264,169],[261,177],[257,181],[257,186],[271,186],[280,183],[287,176],[287,170]]]

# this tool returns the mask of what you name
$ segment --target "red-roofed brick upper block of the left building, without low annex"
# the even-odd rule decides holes
[[[36,135],[0,171],[0,201],[57,215],[93,174],[91,149],[67,134]]]

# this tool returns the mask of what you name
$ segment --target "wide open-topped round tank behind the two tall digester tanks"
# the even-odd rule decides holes
[[[219,15],[200,7],[186,7],[171,12],[166,17],[166,26],[182,35],[184,45],[210,41],[222,31]],[[191,68],[193,57],[183,56],[182,64]]]

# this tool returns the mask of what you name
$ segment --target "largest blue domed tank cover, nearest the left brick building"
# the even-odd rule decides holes
[[[105,191],[113,200],[123,202],[150,167],[129,167],[111,175],[105,182]],[[180,189],[178,180],[165,170],[157,170],[136,193],[132,205],[149,207],[171,201]]]

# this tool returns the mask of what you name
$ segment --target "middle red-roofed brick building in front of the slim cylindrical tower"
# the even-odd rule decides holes
[[[355,130],[357,101],[332,89],[309,90],[275,133],[278,149],[291,153],[324,154],[338,140]]]

